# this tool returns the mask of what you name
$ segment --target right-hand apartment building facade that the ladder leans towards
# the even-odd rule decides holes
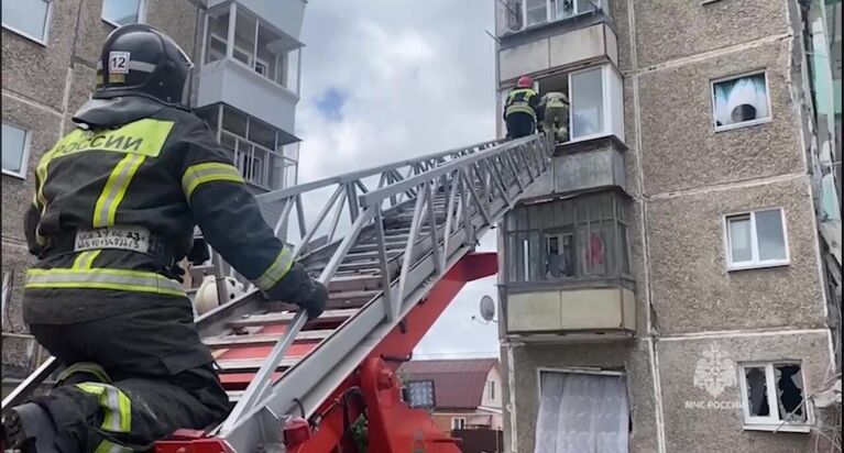
[[[570,101],[498,228],[507,451],[835,451],[840,2],[494,3],[500,108]]]

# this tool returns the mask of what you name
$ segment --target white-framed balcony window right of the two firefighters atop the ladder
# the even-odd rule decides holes
[[[569,75],[569,140],[615,135],[624,141],[622,78],[611,65]]]

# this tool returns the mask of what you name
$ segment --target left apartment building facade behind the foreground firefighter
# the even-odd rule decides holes
[[[31,0],[2,3],[3,377],[39,362],[21,319],[33,263],[22,231],[43,154],[74,128],[116,26],[149,23],[195,64],[191,104],[255,194],[296,184],[305,0]]]

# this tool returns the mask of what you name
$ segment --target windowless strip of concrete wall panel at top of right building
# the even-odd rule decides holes
[[[636,0],[639,67],[788,32],[787,1]]]

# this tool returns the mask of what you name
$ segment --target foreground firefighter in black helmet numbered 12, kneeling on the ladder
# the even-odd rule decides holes
[[[13,408],[4,445],[37,452],[146,450],[230,410],[175,263],[194,225],[272,300],[318,317],[326,288],[294,263],[238,168],[187,107],[193,64],[142,24],[113,31],[78,129],[42,157],[25,216],[39,263],[24,319],[69,365],[50,395]]]

